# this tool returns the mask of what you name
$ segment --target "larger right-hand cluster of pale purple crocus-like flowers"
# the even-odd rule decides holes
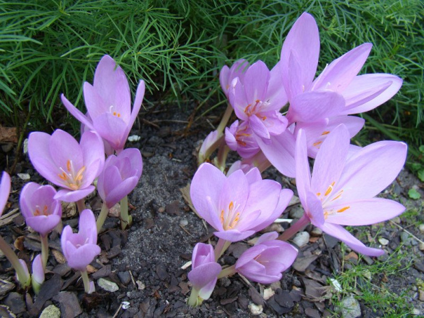
[[[395,75],[358,75],[371,47],[365,43],[352,49],[314,79],[319,32],[313,16],[304,13],[284,40],[274,68],[269,70],[262,61],[250,65],[243,59],[222,68],[222,90],[228,109],[233,109],[238,119],[223,131],[230,118],[224,116],[200,148],[199,161],[217,147],[237,151],[242,160],[233,163],[228,176],[221,172],[226,168],[222,158],[215,161],[219,169],[203,163],[191,183],[196,211],[219,238],[215,259],[212,246],[202,244],[194,249],[189,275],[195,295],[191,305],[211,295],[216,278],[236,272],[265,284],[280,280],[281,272],[297,256],[297,250],[285,241],[308,223],[362,254],[384,253],[365,246],[343,228],[382,222],[405,211],[398,202],[374,197],[399,174],[406,160],[406,144],[375,142],[364,148],[350,144],[365,124],[351,115],[388,101],[402,84]],[[226,144],[215,142],[220,136]],[[315,159],[312,176],[308,157]],[[230,242],[263,230],[287,207],[291,191],[261,179],[261,172],[271,165],[295,178],[303,217],[280,237],[276,233],[262,235],[235,265],[218,270],[218,258]],[[208,276],[196,274],[206,266],[211,268]]]

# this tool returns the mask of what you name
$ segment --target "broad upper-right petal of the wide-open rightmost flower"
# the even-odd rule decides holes
[[[407,146],[403,142],[375,142],[349,158],[345,170],[334,188],[343,189],[339,202],[373,198],[399,174],[406,160]]]

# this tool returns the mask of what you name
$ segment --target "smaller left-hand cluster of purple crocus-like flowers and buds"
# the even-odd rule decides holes
[[[34,258],[32,279],[26,263],[17,260],[7,244],[0,241],[1,250],[8,250],[8,259],[16,269],[18,281],[25,287],[32,282],[36,293],[44,281],[49,256],[47,235],[62,221],[61,201],[76,202],[80,213],[79,233],[72,233],[72,228],[66,226],[61,241],[68,265],[81,271],[88,293],[94,291],[94,283],[89,281],[86,267],[101,252],[97,246],[97,234],[105,222],[107,212],[122,200],[122,229],[131,224],[127,195],[140,180],[143,161],[140,150],[124,150],[124,145],[142,105],[144,81],[140,81],[131,110],[127,77],[114,59],[105,55],[96,68],[94,85],[84,83],[83,94],[88,109],[86,116],[62,95],[66,108],[81,121],[79,142],[60,129],[52,135],[42,132],[29,135],[28,153],[31,163],[41,176],[60,188],[56,191],[52,185],[31,182],[21,191],[21,212],[27,225],[40,233],[42,242],[41,256]],[[97,221],[94,213],[85,209],[84,201],[96,187],[103,200]],[[0,188],[1,211],[9,191],[10,177],[4,173]]]

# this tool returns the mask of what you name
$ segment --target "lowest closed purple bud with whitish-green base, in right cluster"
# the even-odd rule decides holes
[[[220,271],[221,265],[215,262],[213,247],[210,244],[197,243],[191,256],[191,271],[187,275],[193,284],[192,293],[195,296],[197,293],[201,300],[209,299]],[[195,302],[191,304],[191,306],[195,305]]]

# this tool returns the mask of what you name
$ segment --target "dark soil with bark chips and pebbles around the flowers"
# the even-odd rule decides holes
[[[423,202],[408,198],[411,187],[424,196],[423,184],[406,170],[382,196],[395,198],[406,205],[407,214],[395,222],[352,229],[352,233],[367,245],[378,246],[378,239],[387,239],[385,256],[358,259],[357,254],[332,237],[313,232],[313,226],[308,226],[306,231],[313,233],[310,241],[300,248],[294,268],[284,273],[280,282],[263,286],[237,275],[223,278],[202,306],[187,306],[190,267],[183,266],[191,260],[191,251],[197,242],[215,244],[216,239],[213,229],[191,211],[180,189],[196,172],[196,146],[211,131],[211,124],[217,124],[220,119],[217,114],[191,121],[194,118],[191,115],[191,112],[181,112],[177,108],[140,114],[140,122],[135,124],[131,134],[141,138],[138,142],[128,143],[128,147],[140,148],[144,159],[140,183],[129,196],[133,225],[122,231],[118,218],[108,218],[105,230],[98,237],[102,253],[90,267],[90,279],[96,282],[96,293],[83,293],[79,274],[64,263],[59,252],[59,235],[53,231],[49,241],[51,256],[47,281],[38,296],[16,286],[10,263],[4,256],[0,257],[1,317],[38,317],[51,304],[60,308],[62,317],[253,317],[261,310],[263,313],[259,317],[338,317],[338,300],[349,295],[359,300],[361,317],[384,317],[391,312],[395,313],[392,317],[401,317],[401,314],[406,317],[412,310],[415,315],[424,314],[424,291],[421,296],[419,291],[424,287],[423,246],[417,239],[408,237],[408,233],[402,234],[403,228],[421,241],[424,239],[424,233],[419,230],[419,225],[424,223]],[[11,154],[12,151],[6,155]],[[237,157],[234,155],[233,158]],[[30,181],[43,182],[26,157],[18,164],[16,172],[29,174]],[[294,182],[274,169],[267,170],[263,176],[295,191]],[[29,232],[17,210],[9,218],[4,217],[18,208],[18,194],[26,182],[13,176],[13,191],[0,218],[0,233],[29,263],[31,256],[40,250],[36,233]],[[101,201],[97,197],[89,198],[87,204],[94,213],[100,211]],[[282,217],[295,218],[299,211],[299,204],[293,204]],[[64,224],[77,228],[77,222],[75,209],[64,209]],[[267,230],[282,231],[288,226],[288,223],[273,224]],[[220,262],[232,265],[247,247],[246,242],[233,244]],[[395,258],[390,256],[393,254]],[[369,283],[376,290],[384,291],[382,298],[387,293],[403,297],[405,302],[401,305],[371,302],[360,291],[359,285],[365,283],[361,282],[362,276],[358,279],[356,291],[347,288],[336,291],[330,283],[334,275],[347,272],[356,265],[373,266],[384,262],[400,263],[398,267],[404,269],[372,272]],[[118,291],[105,291],[99,287],[101,278],[115,282]]]

